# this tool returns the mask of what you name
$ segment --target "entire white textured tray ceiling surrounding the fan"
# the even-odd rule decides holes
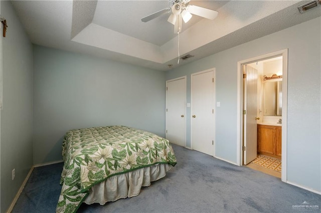
[[[297,6],[305,2],[191,0],[190,4],[219,14],[214,20],[193,15],[179,36],[167,21],[170,13],[140,20],[169,7],[168,0],[14,0],[12,4],[34,44],[166,71],[171,69],[168,64],[174,68],[321,15],[321,7],[300,14]],[[178,42],[181,56],[194,55],[179,64]]]

